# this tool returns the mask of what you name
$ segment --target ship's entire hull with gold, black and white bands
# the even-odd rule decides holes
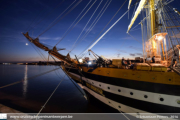
[[[80,71],[64,66],[63,69],[85,91],[119,111],[125,113],[180,112],[180,85],[177,85],[180,78],[176,73],[170,72],[170,75],[168,72],[135,71],[117,68],[96,68],[91,72],[86,72],[91,68],[82,67],[82,71]],[[124,74],[126,79],[112,77],[111,72],[115,72],[113,70],[116,72],[119,70],[119,76]],[[101,74],[97,75],[97,71],[101,71]],[[122,71],[124,72],[121,73]],[[150,76],[147,76],[146,80],[128,79],[128,76],[129,78],[131,76],[140,76],[139,72],[147,72]],[[159,76],[155,73],[158,73]],[[155,80],[148,81],[148,77],[154,77]],[[159,77],[160,80],[158,80]],[[142,75],[141,78],[143,78]]]

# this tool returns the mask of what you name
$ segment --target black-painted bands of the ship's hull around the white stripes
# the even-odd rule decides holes
[[[89,73],[85,73],[85,72],[82,72],[82,74],[84,75],[84,77],[83,77],[82,74],[77,69],[66,68],[66,70],[69,71],[69,73],[72,73],[72,75],[76,76],[76,78],[73,78],[73,77],[72,78],[77,83],[80,83],[83,86],[83,88],[86,88],[85,90],[87,92],[89,92],[89,90],[91,90],[94,93],[105,97],[107,99],[107,101],[109,100],[108,104],[111,104],[111,100],[112,100],[116,103],[120,103],[125,106],[137,109],[137,110],[134,110],[135,113],[138,113],[139,112],[138,110],[143,111],[143,112],[148,112],[148,113],[179,113],[180,112],[180,105],[177,103],[176,103],[177,106],[163,104],[164,101],[167,101],[167,99],[170,100],[171,98],[166,99],[163,97],[159,97],[159,99],[158,99],[159,102],[153,103],[151,101],[144,101],[141,99],[137,99],[137,97],[133,98],[133,96],[136,96],[136,94],[133,91],[129,92],[129,95],[131,96],[131,98],[127,97],[127,96],[119,95],[119,94],[116,94],[113,92],[109,92],[108,90],[104,90],[104,89],[101,89],[102,91],[99,92],[98,89],[101,88],[101,86],[100,86],[101,84],[99,84],[99,87],[97,87],[97,85],[96,86],[94,85],[95,83],[90,82],[90,81],[85,81],[83,79],[85,77],[85,79],[86,78],[91,79],[93,81],[97,81],[98,83],[105,83],[108,85],[116,85],[119,87],[124,87],[124,88],[128,88],[128,89],[130,88],[130,89],[134,89],[134,90],[138,90],[138,91],[151,92],[151,94],[152,93],[166,94],[169,96],[175,95],[178,97],[180,96],[180,87],[179,86],[142,82],[142,81],[125,80],[125,79],[119,79],[119,78],[110,78],[107,76],[94,75],[94,74],[89,74]],[[91,84],[91,86],[89,84]],[[89,89],[89,90],[87,90],[87,89]],[[112,88],[107,87],[107,89],[110,90]],[[121,93],[123,92],[120,89],[118,89],[118,90],[119,90],[118,92],[121,92]],[[179,91],[177,91],[177,90],[179,90]],[[148,94],[142,95],[142,96],[147,97],[147,99],[149,97]],[[121,109],[121,105],[117,105],[114,108]]]

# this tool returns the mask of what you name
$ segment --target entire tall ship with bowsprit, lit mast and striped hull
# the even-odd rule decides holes
[[[170,6],[171,2],[129,0],[127,11],[81,57],[63,55],[56,46],[49,48],[38,37],[30,37],[28,32],[23,35],[49,56],[62,61],[61,68],[70,78],[110,107],[124,113],[179,113],[180,12]],[[93,52],[91,48],[133,7],[135,11],[127,33],[138,16],[142,16],[139,24],[143,58],[109,60]],[[86,53],[95,59],[84,58]]]

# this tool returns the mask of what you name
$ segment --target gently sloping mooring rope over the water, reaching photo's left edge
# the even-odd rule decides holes
[[[27,78],[27,80],[36,78],[36,77],[41,76],[41,75],[44,75],[44,74],[47,74],[47,73],[52,72],[52,71],[57,70],[57,69],[59,69],[59,68],[56,68],[56,69],[53,69],[53,70],[50,70],[50,71],[47,71],[47,72],[44,72],[44,73],[41,73],[41,74],[32,76],[32,77],[29,77],[29,78]],[[5,88],[5,87],[8,87],[8,86],[15,85],[15,84],[18,84],[18,83],[21,83],[21,82],[23,82],[23,81],[24,81],[24,79],[23,79],[23,80],[20,80],[20,81],[17,81],[17,82],[14,82],[14,83],[11,83],[11,84],[8,84],[8,85],[4,85],[4,86],[0,87],[0,89]]]

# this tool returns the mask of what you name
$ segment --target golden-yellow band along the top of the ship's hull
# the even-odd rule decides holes
[[[84,72],[128,79],[128,80],[136,80],[136,81],[144,81],[144,82],[152,82],[152,83],[162,83],[162,84],[171,84],[171,85],[180,85],[180,76],[175,72],[155,72],[155,71],[140,71],[133,69],[118,69],[118,68],[96,68],[92,72],[88,72],[89,69],[87,67],[82,67]]]

